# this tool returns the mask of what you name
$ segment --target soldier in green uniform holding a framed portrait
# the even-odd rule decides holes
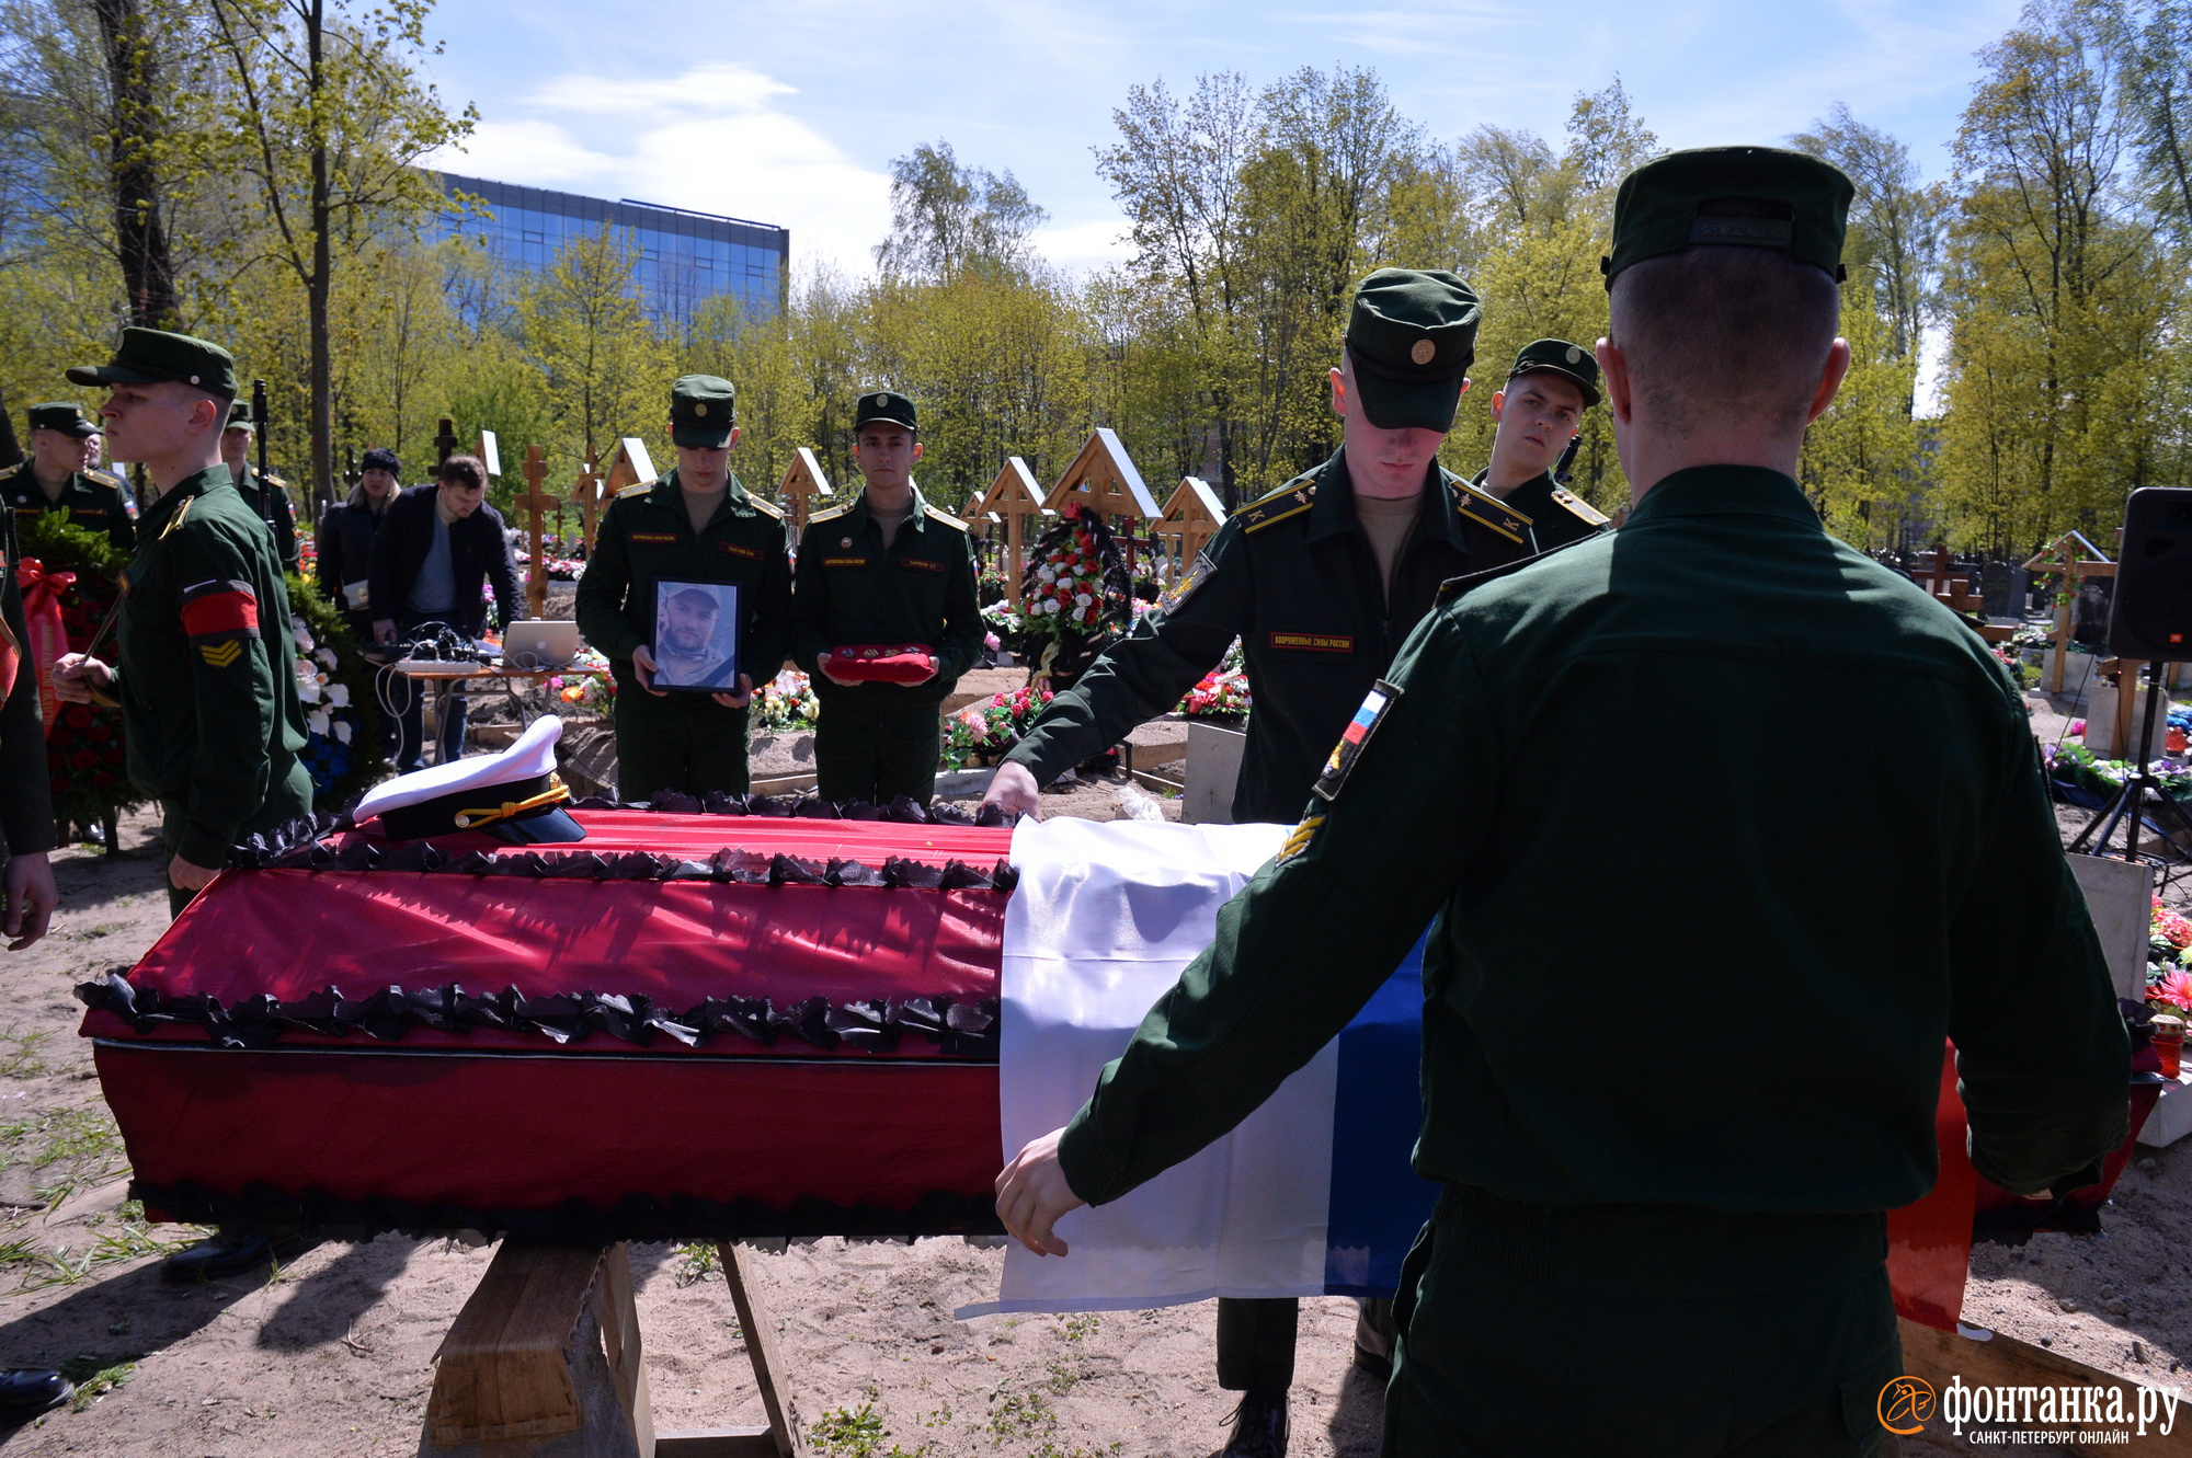
[[[662,790],[745,790],[745,705],[754,679],[772,679],[783,666],[791,620],[785,514],[747,495],[730,471],[739,444],[732,383],[686,374],[671,385],[671,442],[677,466],[660,482],[616,493],[579,578],[579,630],[616,674],[616,784],[633,803]],[[743,622],[730,692],[653,687],[662,580],[739,585]]]

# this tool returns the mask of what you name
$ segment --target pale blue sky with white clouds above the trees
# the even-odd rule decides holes
[[[1559,140],[1569,101],[1620,72],[1666,147],[1780,140],[1835,101],[1911,144],[1927,177],[2012,0],[1425,0],[1344,9],[1214,0],[445,0],[434,79],[482,125],[441,166],[791,228],[796,265],[866,271],[888,164],[949,140],[1011,169],[1068,267],[1122,258],[1089,149],[1138,81],[1252,83],[1372,66],[1434,136],[1480,123]]]

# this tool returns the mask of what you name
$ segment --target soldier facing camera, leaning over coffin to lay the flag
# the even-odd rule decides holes
[[[1032,814],[1037,786],[1173,711],[1238,637],[1256,714],[1232,814],[1291,821],[1438,585],[1532,552],[1528,517],[1436,460],[1477,315],[1447,271],[1363,278],[1331,377],[1339,449],[1234,512],[1157,609],[1050,703],[984,803]]]

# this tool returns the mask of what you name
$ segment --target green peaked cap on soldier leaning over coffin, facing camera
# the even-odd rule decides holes
[[[1453,429],[1482,315],[1475,291],[1447,269],[1379,269],[1361,280],[1348,313],[1348,359],[1370,425]]]

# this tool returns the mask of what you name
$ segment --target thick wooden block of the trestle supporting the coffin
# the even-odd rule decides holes
[[[570,1340],[603,1250],[502,1241],[441,1342],[427,1399],[434,1443],[506,1443],[576,1432]]]

